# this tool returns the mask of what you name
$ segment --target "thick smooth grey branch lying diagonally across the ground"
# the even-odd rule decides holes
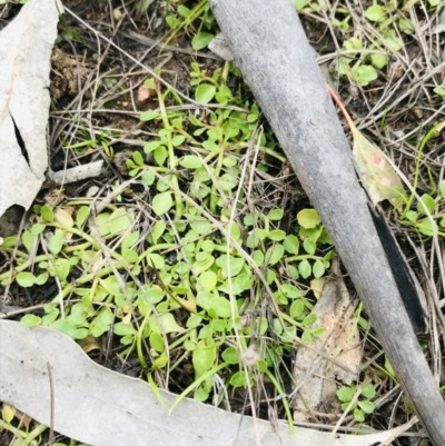
[[[330,234],[389,361],[436,446],[445,403],[413,331],[349,145],[290,0],[209,0],[263,112]]]

